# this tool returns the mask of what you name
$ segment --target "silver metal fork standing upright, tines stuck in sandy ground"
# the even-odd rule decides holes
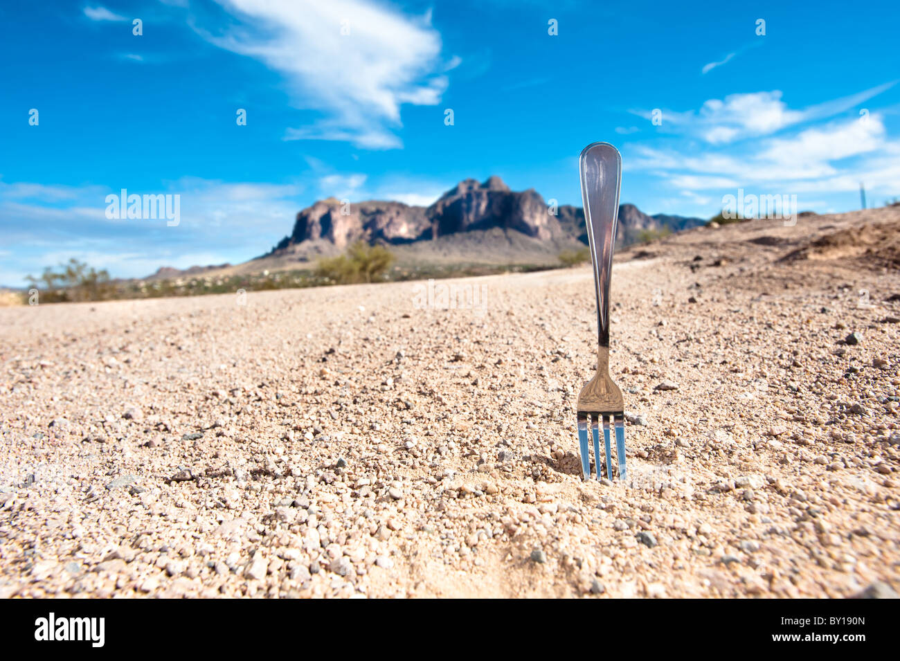
[[[603,425],[604,456],[607,478],[612,479],[612,451],[609,427],[616,429],[618,477],[626,479],[625,405],[622,391],[609,378],[609,278],[616,249],[619,184],[622,181],[622,156],[607,142],[594,142],[581,151],[581,201],[588,226],[590,258],[594,265],[594,288],[597,293],[597,373],[578,396],[578,441],[581,450],[581,473],[590,479],[588,427],[594,445],[594,465],[600,479],[599,425]],[[602,423],[600,422],[602,421]]]

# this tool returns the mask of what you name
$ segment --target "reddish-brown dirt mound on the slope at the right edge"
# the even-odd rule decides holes
[[[811,240],[781,261],[853,260],[870,268],[900,267],[900,221],[845,228]]]

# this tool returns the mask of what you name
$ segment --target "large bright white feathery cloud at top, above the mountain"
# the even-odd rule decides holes
[[[369,0],[217,0],[238,26],[204,39],[257,58],[282,76],[294,102],[321,113],[285,139],[401,147],[401,105],[434,105],[447,80],[430,15],[406,16]],[[348,31],[348,34],[342,34]]]

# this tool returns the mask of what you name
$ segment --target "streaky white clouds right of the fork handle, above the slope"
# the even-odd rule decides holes
[[[709,100],[697,112],[663,112],[669,132],[632,145],[628,169],[651,174],[699,213],[738,188],[796,193],[810,209],[824,208],[823,196],[855,195],[860,182],[890,197],[900,191],[900,141],[889,137],[877,108],[854,111],[893,85],[803,109],[773,91]],[[678,209],[677,200],[662,202]]]

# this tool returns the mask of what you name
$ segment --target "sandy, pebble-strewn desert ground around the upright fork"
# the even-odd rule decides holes
[[[619,255],[626,484],[579,475],[590,267],[0,309],[0,595],[894,594],[898,232]]]

